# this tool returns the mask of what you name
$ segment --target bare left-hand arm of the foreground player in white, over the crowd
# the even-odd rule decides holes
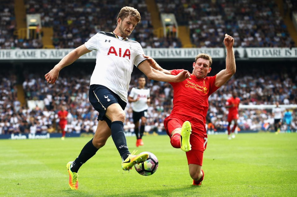
[[[55,81],[58,79],[59,72],[65,66],[72,64],[75,60],[77,60],[82,55],[91,52],[89,49],[85,47],[85,45],[81,45],[76,49],[73,49],[69,54],[67,54],[61,61],[55,65],[55,67],[50,70],[50,72],[44,75],[47,83],[55,84]]]

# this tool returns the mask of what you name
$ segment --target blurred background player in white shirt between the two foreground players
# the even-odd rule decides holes
[[[142,136],[144,133],[144,127],[146,125],[147,108],[150,99],[150,89],[145,88],[146,79],[144,76],[138,78],[138,87],[132,88],[128,101],[133,102],[133,122],[135,125],[134,132],[136,135],[136,147],[143,146]],[[141,125],[139,130],[139,119],[141,119]],[[139,132],[140,131],[140,132]]]

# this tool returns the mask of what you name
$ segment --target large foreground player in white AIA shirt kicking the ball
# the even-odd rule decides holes
[[[146,153],[134,155],[135,151],[132,154],[129,152],[123,129],[124,108],[127,104],[133,65],[153,80],[180,82],[190,77],[186,70],[175,76],[166,75],[151,67],[143,57],[141,45],[127,38],[139,22],[140,14],[136,9],[123,7],[117,16],[117,26],[113,32],[98,32],[85,44],[62,58],[45,75],[47,82],[54,84],[62,68],[92,50],[97,52],[96,66],[90,81],[89,100],[94,109],[99,112],[98,126],[94,138],[85,144],[74,161],[66,165],[69,174],[68,183],[72,190],[78,189],[78,169],[105,145],[110,135],[122,158],[123,170],[132,169],[135,163],[145,161],[148,157]]]

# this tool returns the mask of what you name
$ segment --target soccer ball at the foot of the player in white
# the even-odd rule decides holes
[[[147,153],[149,157],[146,159],[146,161],[143,161],[142,163],[139,163],[139,164],[135,164],[134,168],[139,174],[143,176],[150,176],[153,173],[155,173],[156,170],[158,169],[158,164],[159,164],[158,159],[151,152],[142,152],[142,153]]]

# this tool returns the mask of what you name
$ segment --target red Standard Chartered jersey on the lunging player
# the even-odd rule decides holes
[[[177,75],[183,70],[172,70],[172,75]],[[198,79],[195,75],[179,82],[170,83],[173,86],[173,110],[177,113],[192,116],[206,122],[208,110],[208,97],[219,87],[215,86],[216,76]]]

